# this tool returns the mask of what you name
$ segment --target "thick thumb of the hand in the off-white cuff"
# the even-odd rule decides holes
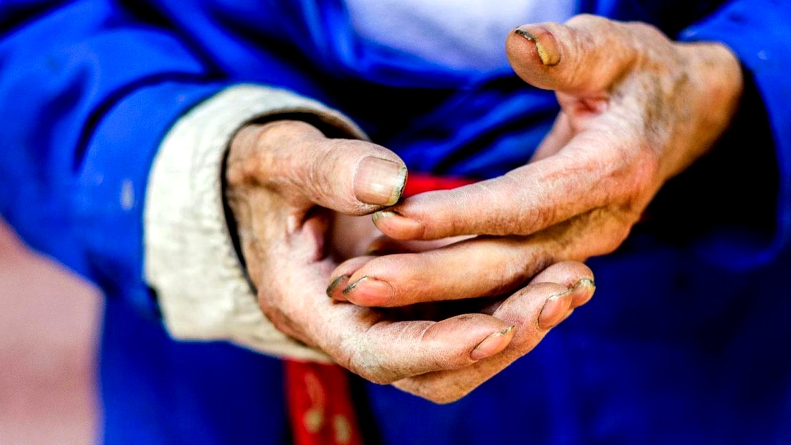
[[[287,199],[364,215],[396,203],[407,167],[392,151],[360,140],[327,139],[295,121],[248,125],[234,144],[257,147],[251,177]]]

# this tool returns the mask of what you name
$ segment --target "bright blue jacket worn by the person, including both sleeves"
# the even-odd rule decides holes
[[[452,405],[366,386],[382,440],[791,443],[791,4],[579,10],[725,42],[754,101],[668,184],[653,219],[591,261],[596,299],[535,352]],[[338,0],[0,3],[0,213],[108,295],[106,443],[288,440],[278,361],[170,340],[142,280],[154,151],[179,116],[236,82],[316,97],[411,169],[471,177],[524,163],[557,112],[507,67],[452,71],[359,39]]]

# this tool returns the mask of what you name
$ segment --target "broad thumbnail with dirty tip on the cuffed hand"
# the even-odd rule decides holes
[[[407,184],[407,167],[369,156],[360,162],[354,177],[354,195],[364,203],[392,206]]]

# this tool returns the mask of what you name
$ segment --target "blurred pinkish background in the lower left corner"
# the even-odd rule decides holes
[[[101,304],[0,219],[0,444],[96,442]]]

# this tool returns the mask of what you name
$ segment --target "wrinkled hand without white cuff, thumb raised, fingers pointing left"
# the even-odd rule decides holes
[[[349,301],[400,306],[498,295],[547,264],[610,253],[662,184],[710,149],[741,95],[728,49],[675,43],[641,23],[579,16],[527,25],[506,47],[520,78],[557,92],[562,112],[551,133],[532,162],[505,176],[375,214],[379,229],[400,240],[478,236],[426,253],[351,260],[342,265]]]

